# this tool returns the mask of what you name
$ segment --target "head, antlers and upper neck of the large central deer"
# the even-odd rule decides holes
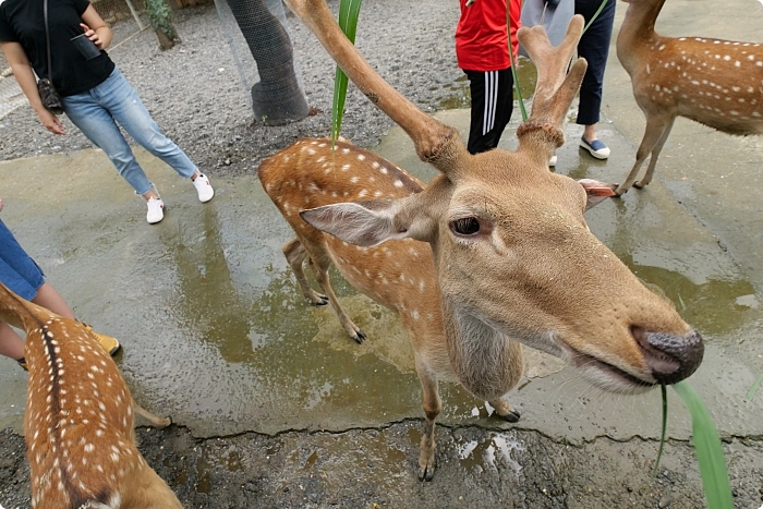
[[[372,70],[323,0],[287,3],[366,97],[405,130],[421,159],[440,172],[417,194],[327,205],[301,216],[352,244],[405,238],[431,244],[448,353],[470,391],[501,396],[485,376],[484,357],[507,340],[561,356],[610,390],[671,384],[697,369],[700,335],[589,231],[583,186],[547,168],[564,144],[565,114],[586,68],[578,59],[565,72],[582,33],[581,16],[556,48],[542,27],[519,31],[538,69],[532,114],[517,133],[519,148],[470,155],[452,128],[423,113]]]

